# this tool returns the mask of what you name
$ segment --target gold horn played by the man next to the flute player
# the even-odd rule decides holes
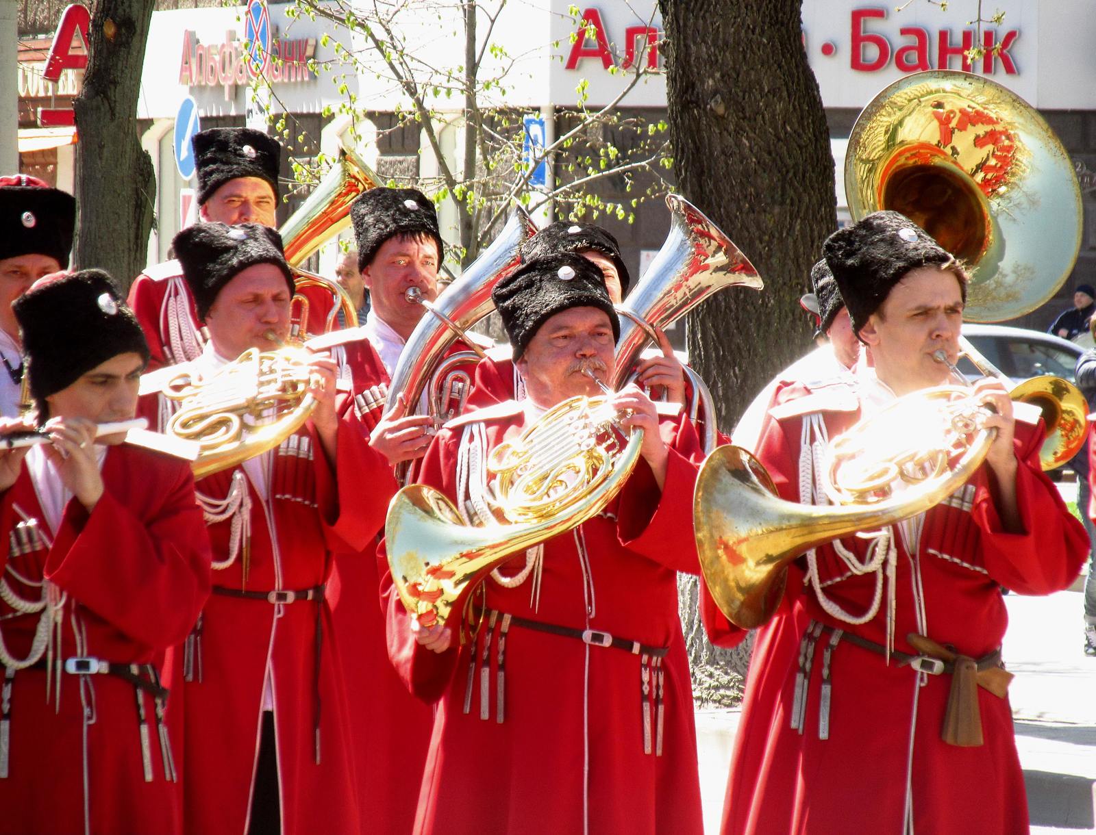
[[[167,433],[199,444],[195,478],[235,467],[296,432],[316,408],[311,355],[249,348],[209,377],[184,368],[161,389],[179,403]]]

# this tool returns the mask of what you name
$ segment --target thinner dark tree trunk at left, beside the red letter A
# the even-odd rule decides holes
[[[156,205],[152,160],[137,136],[137,95],[153,0],[100,0],[83,90],[73,102],[76,268],[106,270],[125,290],[144,268]]]

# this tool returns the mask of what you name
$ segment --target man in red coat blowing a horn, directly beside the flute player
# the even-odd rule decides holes
[[[293,277],[273,229],[202,224],[174,240],[208,332],[208,379],[288,336]],[[273,332],[273,333],[271,333]],[[277,448],[196,485],[214,587],[184,649],[184,821],[192,833],[351,833],[359,821],[340,648],[326,583],[335,551],[379,530],[395,479],[318,356],[318,404]],[[353,396],[353,391],[351,396]],[[355,706],[354,709],[361,709]]]

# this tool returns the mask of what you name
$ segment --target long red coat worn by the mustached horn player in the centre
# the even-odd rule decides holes
[[[486,423],[491,447],[523,423],[520,408],[494,414]],[[418,645],[385,561],[389,655],[409,689],[426,700],[441,699],[416,832],[572,833],[583,831],[584,819],[594,833],[701,831],[676,583],[676,572],[698,570],[689,525],[696,471],[687,460],[697,441],[687,422],[663,426],[673,442],[665,489],[659,492],[641,461],[602,514],[545,542],[539,608],[530,600],[529,582],[506,588],[488,580],[486,597],[476,598],[529,620],[669,648],[662,667],[661,756],[644,753],[639,654],[512,626],[505,643],[504,721],[499,722],[499,628],[483,622],[477,640],[441,654]],[[461,434],[460,427],[443,430],[423,466],[422,481],[450,499]],[[579,541],[585,544],[585,558]],[[384,547],[379,558],[385,560]],[[520,556],[510,565],[523,562]],[[491,667],[486,704],[479,675],[469,671],[473,651],[476,659],[487,652]],[[469,675],[475,686],[466,713]]]

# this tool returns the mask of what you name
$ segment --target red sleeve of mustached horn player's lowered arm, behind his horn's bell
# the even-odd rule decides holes
[[[456,490],[452,483],[447,483],[446,474],[452,477],[455,472],[458,443],[459,435],[443,430],[426,450],[419,478],[420,483],[441,490],[450,500]],[[437,701],[453,678],[457,647],[437,653],[425,649],[414,640],[411,634],[411,615],[400,600],[392,583],[385,540],[381,540],[377,548],[377,573],[380,575],[380,610],[385,617],[388,657],[403,686],[413,696],[426,702]],[[453,640],[456,643],[456,630]]]

